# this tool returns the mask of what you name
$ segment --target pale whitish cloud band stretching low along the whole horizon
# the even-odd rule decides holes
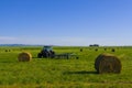
[[[0,36],[0,44],[44,44],[44,45],[76,45],[76,46],[88,46],[89,44],[99,45],[128,45],[132,44],[130,40],[122,38],[108,38],[108,37],[12,37],[12,36]],[[125,41],[125,42],[124,42]]]

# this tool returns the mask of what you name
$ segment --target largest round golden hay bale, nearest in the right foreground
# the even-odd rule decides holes
[[[122,66],[120,59],[111,54],[100,54],[95,62],[95,68],[99,74],[103,73],[120,74],[121,67]]]

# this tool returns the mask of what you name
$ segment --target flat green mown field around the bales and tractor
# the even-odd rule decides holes
[[[56,53],[75,53],[79,59],[37,58],[41,48],[1,46],[0,88],[132,88],[132,47],[98,47],[97,52],[96,47],[53,47]],[[30,52],[33,59],[18,62],[21,52]],[[97,74],[95,59],[101,53],[120,58],[121,74]]]

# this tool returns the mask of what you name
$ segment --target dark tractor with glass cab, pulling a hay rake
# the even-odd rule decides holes
[[[42,51],[37,54],[37,57],[54,58],[55,52],[53,51],[52,46],[44,46]]]

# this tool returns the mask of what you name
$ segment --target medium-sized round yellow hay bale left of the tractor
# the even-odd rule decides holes
[[[28,52],[20,53],[18,56],[19,62],[30,62],[32,59],[32,55]]]

